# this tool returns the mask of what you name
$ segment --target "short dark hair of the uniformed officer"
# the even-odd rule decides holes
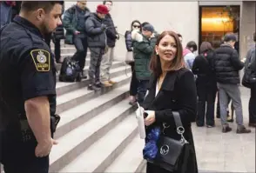
[[[56,3],[64,5],[64,1],[23,1],[21,4],[21,10],[33,11],[37,9],[44,9],[46,12],[49,12]]]

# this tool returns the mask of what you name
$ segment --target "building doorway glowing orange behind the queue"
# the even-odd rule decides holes
[[[200,6],[199,8],[199,44],[210,42],[221,43],[228,32],[237,35],[239,41],[239,6]],[[239,42],[235,49],[239,51]]]

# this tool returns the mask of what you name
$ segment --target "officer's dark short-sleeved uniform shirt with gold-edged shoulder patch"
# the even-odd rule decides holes
[[[51,115],[55,114],[56,69],[43,35],[28,20],[15,17],[0,40],[0,95],[6,116],[25,117],[24,102],[38,96],[48,96]]]

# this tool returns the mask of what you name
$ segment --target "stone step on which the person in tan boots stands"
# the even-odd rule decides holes
[[[116,81],[117,83],[111,87],[104,87],[102,90],[98,90],[96,92],[93,90],[87,90],[87,87],[84,87],[82,89],[74,90],[64,95],[57,96],[57,114],[60,114],[65,110],[69,110],[79,105],[80,103],[89,101],[92,98],[101,96],[102,94],[107,93],[121,85],[124,85],[125,83],[129,83],[130,77],[123,75],[120,77],[114,77],[112,80]],[[126,90],[129,90],[129,86],[126,87]]]

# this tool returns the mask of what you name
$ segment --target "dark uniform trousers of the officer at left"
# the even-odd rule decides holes
[[[34,137],[23,142],[15,127],[1,132],[1,163],[5,173],[48,173],[49,156],[35,156],[37,141]]]

